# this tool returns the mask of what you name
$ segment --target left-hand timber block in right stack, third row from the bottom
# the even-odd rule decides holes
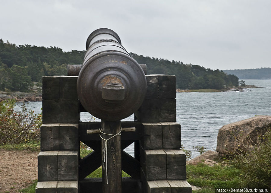
[[[160,123],[142,123],[141,145],[145,150],[162,149],[162,125]]]

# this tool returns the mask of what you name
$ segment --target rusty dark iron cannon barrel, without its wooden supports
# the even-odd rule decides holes
[[[120,120],[133,114],[146,93],[140,65],[121,45],[117,33],[107,28],[93,31],[77,79],[81,104],[93,116]]]

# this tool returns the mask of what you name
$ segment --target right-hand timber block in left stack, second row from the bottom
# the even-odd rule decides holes
[[[77,181],[78,180],[78,152],[59,151],[58,152],[58,180]]]

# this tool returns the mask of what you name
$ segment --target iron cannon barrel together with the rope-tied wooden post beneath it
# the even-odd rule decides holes
[[[121,192],[120,120],[141,106],[146,77],[121,45],[118,34],[110,29],[93,31],[87,38],[86,49],[77,94],[84,109],[102,119],[103,192]]]

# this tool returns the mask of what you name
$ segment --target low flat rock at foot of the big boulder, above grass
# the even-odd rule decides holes
[[[217,162],[214,160],[218,159],[221,156],[222,155],[220,153],[209,150],[193,158],[192,160],[187,161],[186,164],[197,165],[199,163],[205,163],[206,165],[214,166],[217,164]]]

